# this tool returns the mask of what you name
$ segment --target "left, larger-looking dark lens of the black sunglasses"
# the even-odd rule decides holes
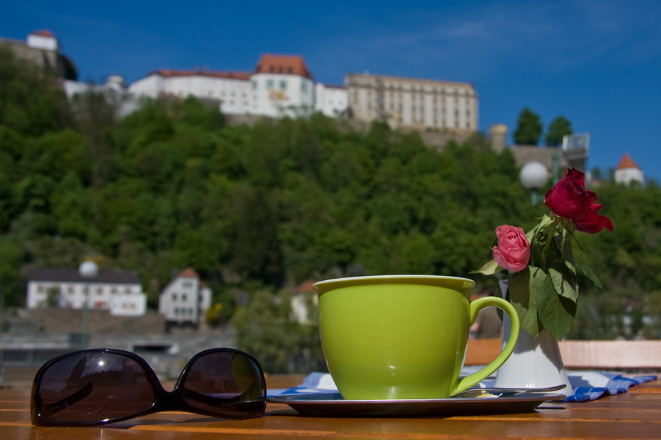
[[[131,416],[151,407],[156,394],[134,359],[88,351],[48,366],[35,397],[43,418],[81,423]]]

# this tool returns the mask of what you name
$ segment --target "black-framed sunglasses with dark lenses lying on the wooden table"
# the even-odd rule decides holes
[[[232,348],[198,353],[174,391],[132,352],[92,349],[51,359],[32,386],[33,425],[89,426],[162,411],[221,418],[264,415],[266,382],[260,363]]]

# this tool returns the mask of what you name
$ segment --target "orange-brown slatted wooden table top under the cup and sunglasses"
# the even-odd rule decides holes
[[[300,384],[302,376],[269,377],[267,386]],[[546,402],[534,412],[424,418],[314,418],[287,405],[228,421],[184,412],[153,414],[107,427],[35,427],[29,384],[0,389],[0,439],[661,439],[661,380],[594,402]]]

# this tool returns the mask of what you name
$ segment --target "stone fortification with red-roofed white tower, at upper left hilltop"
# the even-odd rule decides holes
[[[78,78],[76,65],[61,53],[62,44],[51,31],[31,32],[25,42],[0,38],[0,47],[8,47],[18,58],[28,60],[59,78],[75,81]]]

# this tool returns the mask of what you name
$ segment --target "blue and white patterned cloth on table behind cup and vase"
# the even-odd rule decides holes
[[[463,373],[463,372],[462,372]],[[468,372],[472,373],[472,371]],[[572,396],[565,402],[587,402],[617,393],[626,393],[629,387],[643,382],[655,380],[655,375],[623,377],[614,373],[603,371],[570,371],[569,382],[574,389]],[[475,388],[490,388],[493,379],[480,382]],[[333,378],[328,373],[310,373],[303,379],[303,384],[288,389],[269,389],[269,397],[285,396],[292,394],[331,393],[337,391]],[[558,391],[562,393],[562,390]]]

